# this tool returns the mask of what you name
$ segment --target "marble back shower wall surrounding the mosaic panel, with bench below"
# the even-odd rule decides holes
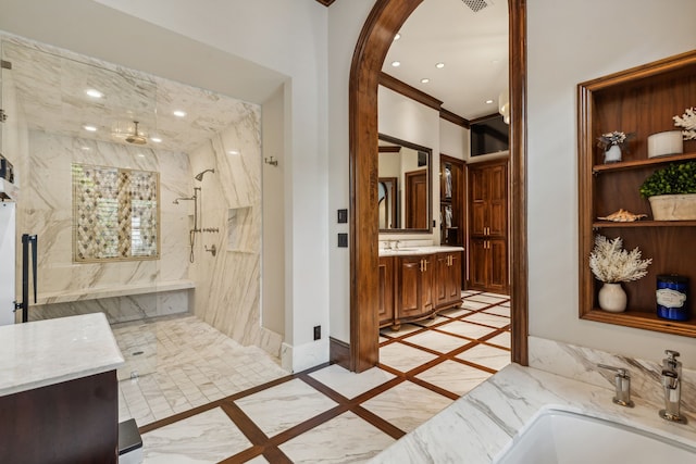
[[[30,130],[28,168],[20,173],[18,204],[23,233],[38,235],[38,292],[41,296],[79,292],[100,287],[120,287],[188,279],[189,218],[172,203],[190,196],[188,155]],[[72,163],[125,167],[160,173],[160,259],[110,263],[73,263]],[[133,298],[110,298],[75,303],[39,305],[35,318],[70,313],[104,311],[110,322],[187,312],[187,292]],[[174,299],[174,300],[173,300]]]

